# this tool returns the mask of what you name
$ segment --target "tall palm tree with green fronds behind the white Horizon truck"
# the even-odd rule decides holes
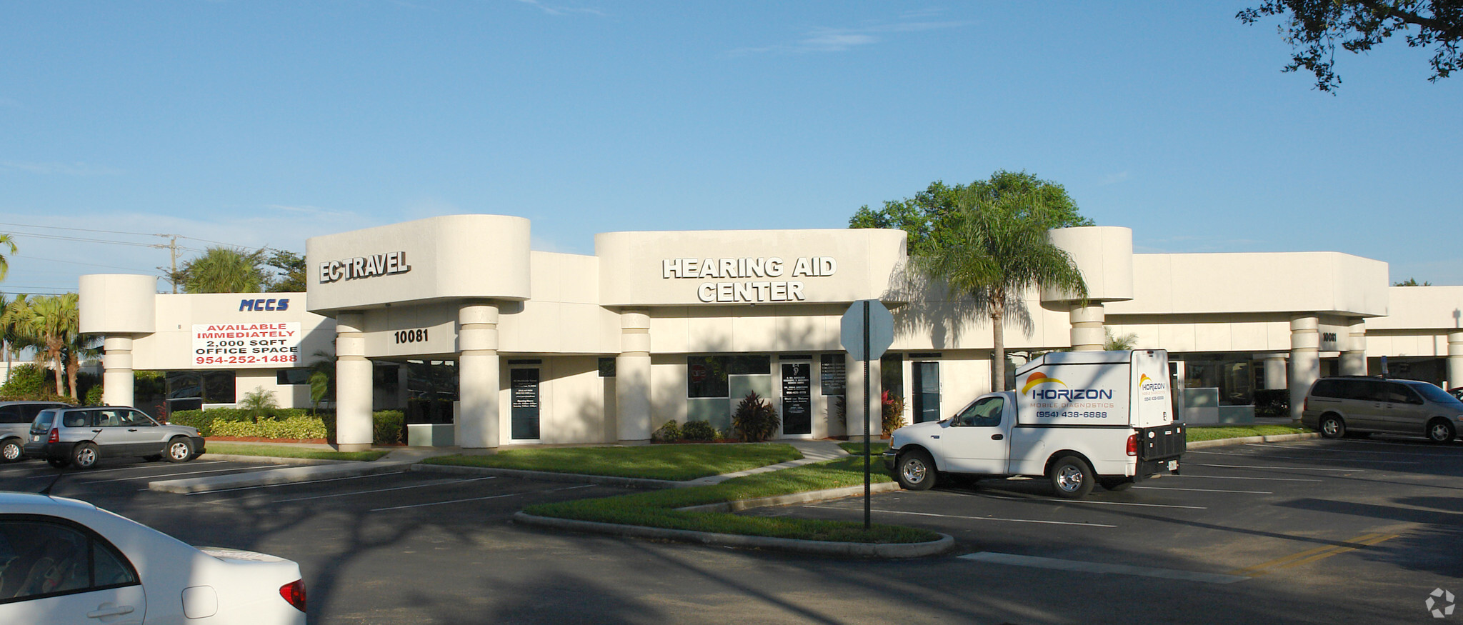
[[[1046,234],[1050,211],[1040,193],[963,192],[938,247],[916,256],[925,278],[942,282],[951,296],[970,296],[990,318],[995,354],[990,389],[1005,391],[1005,319],[1021,306],[1021,294],[1034,287],[1062,288],[1087,296],[1087,282],[1071,256]]]

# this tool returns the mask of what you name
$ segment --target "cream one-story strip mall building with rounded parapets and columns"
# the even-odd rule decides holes
[[[148,275],[86,275],[80,329],[105,337],[105,403],[135,370],[228,404],[263,389],[310,405],[304,366],[334,359],[338,442],[370,444],[372,410],[413,410],[420,445],[645,441],[667,420],[727,427],[749,392],[783,438],[862,432],[860,403],[903,397],[942,419],[989,391],[979,307],[906,278],[898,230],[633,231],[595,253],[530,250],[528,220],[449,215],[315,237],[307,293],[158,294]],[[1334,252],[1132,253],[1122,227],[1052,231],[1090,297],[1028,293],[1005,328],[1015,363],[1097,350],[1105,331],[1165,348],[1191,423],[1245,422],[1257,389],[1292,413],[1321,375],[1463,383],[1463,287],[1390,287],[1387,265]],[[856,300],[894,312],[863,369],[840,345]],[[212,389],[212,391],[209,391]],[[212,392],[212,397],[206,397]],[[847,417],[843,417],[847,405]]]

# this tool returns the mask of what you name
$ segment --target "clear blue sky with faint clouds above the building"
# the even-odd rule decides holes
[[[155,271],[155,234],[187,258],[458,212],[573,253],[840,228],[1001,168],[1140,252],[1336,250],[1463,284],[1463,76],[1426,82],[1397,40],[1343,53],[1327,95],[1248,4],[12,0],[0,290]]]

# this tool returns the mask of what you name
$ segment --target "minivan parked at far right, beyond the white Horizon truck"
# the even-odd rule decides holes
[[[1301,424],[1325,438],[1387,432],[1448,442],[1463,430],[1463,401],[1412,379],[1321,378],[1305,395]]]

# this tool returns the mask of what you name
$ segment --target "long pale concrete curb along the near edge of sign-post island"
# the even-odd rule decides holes
[[[534,517],[522,511],[514,514],[514,523],[620,537],[674,540],[680,543],[718,544],[729,547],[777,549],[791,553],[843,558],[925,558],[945,553],[955,546],[955,539],[949,534],[939,534],[939,540],[928,543],[832,543],[827,540],[774,539],[767,536],[718,534],[711,531],[666,530],[660,527],[575,521],[568,518]]]

